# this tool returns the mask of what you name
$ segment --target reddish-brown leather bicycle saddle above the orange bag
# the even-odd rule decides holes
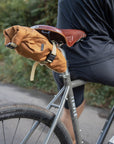
[[[35,25],[31,28],[46,36],[49,41],[54,40],[59,44],[67,44],[69,47],[86,37],[84,31],[77,29],[58,29],[48,25]]]

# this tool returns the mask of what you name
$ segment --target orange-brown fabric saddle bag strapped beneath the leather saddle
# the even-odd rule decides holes
[[[31,58],[38,62],[44,62],[53,49],[49,40],[33,28],[24,26],[12,26],[3,31],[5,45],[13,42],[17,45],[15,50],[18,54]],[[66,59],[60,49],[56,48],[56,56],[53,62],[45,63],[52,70],[63,73],[66,71]]]

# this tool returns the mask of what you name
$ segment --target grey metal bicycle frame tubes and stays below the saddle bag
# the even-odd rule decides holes
[[[65,52],[63,49],[61,49],[63,55],[65,56]],[[65,56],[66,57],[66,56]],[[69,104],[69,109],[70,109],[70,113],[71,113],[71,118],[72,118],[72,123],[73,123],[73,129],[74,129],[74,134],[75,134],[75,138],[76,138],[76,143],[77,144],[82,144],[82,139],[81,139],[81,135],[80,135],[80,129],[79,129],[79,124],[78,124],[78,118],[77,118],[77,112],[76,112],[76,105],[75,105],[75,101],[74,101],[74,95],[73,95],[73,88],[74,87],[78,87],[81,85],[84,85],[86,82],[83,80],[74,80],[71,81],[70,79],[70,73],[68,71],[68,69],[66,70],[65,73],[61,74],[61,76],[63,77],[63,81],[64,81],[64,86],[62,87],[62,89],[57,93],[57,95],[55,95],[55,97],[51,100],[51,102],[48,104],[48,106],[46,107],[46,109],[50,109],[51,107],[55,107],[58,108],[58,111],[56,113],[56,116],[53,120],[53,123],[51,125],[50,131],[47,134],[46,139],[44,140],[44,144],[48,144],[49,138],[52,134],[52,132],[54,131],[54,128],[56,127],[56,124],[58,122],[58,119],[60,118],[61,112],[63,110],[65,101],[68,100],[68,104]],[[54,104],[56,102],[56,100],[62,96],[62,99],[60,101],[60,104]],[[96,144],[102,144],[103,140],[106,136],[106,133],[108,132],[108,129],[110,128],[110,125],[113,121],[114,118],[114,107],[111,110],[111,113],[108,117],[108,119],[106,120],[106,123],[102,129],[101,135],[99,136],[99,139],[97,140]],[[39,125],[39,122],[35,122],[32,129],[28,132],[28,134],[25,136],[23,142],[21,144],[25,144],[27,142],[27,140],[29,139],[29,137],[32,135],[32,133],[35,131],[35,129],[37,128],[37,126]]]

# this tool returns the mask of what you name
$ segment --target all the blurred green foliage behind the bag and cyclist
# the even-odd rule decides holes
[[[0,81],[48,94],[57,92],[52,71],[38,66],[34,82],[29,81],[34,61],[19,56],[4,46],[3,30],[13,25],[31,27],[43,24],[56,26],[58,0],[2,0],[0,2]],[[114,105],[114,88],[89,83],[85,88],[89,105],[111,108]]]

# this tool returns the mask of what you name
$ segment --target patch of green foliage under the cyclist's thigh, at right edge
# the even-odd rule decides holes
[[[111,108],[114,105],[114,88],[90,83],[86,86],[85,97],[91,105]]]

